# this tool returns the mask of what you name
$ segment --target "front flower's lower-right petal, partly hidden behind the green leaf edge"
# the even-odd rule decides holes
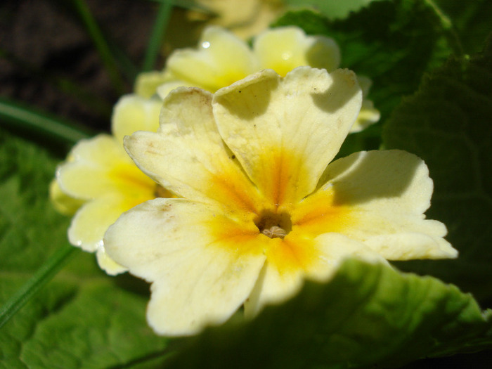
[[[326,282],[347,257],[387,264],[362,242],[338,233],[305,238],[301,229],[278,240],[278,247],[272,247],[266,256],[265,266],[245,303],[247,316],[256,315],[265,304],[279,304],[293,297],[306,278]],[[290,264],[285,264],[286,259],[291,259]]]

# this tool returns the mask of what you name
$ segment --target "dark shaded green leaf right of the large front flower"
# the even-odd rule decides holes
[[[432,273],[492,305],[492,42],[474,58],[453,57],[423,79],[384,131],[387,148],[427,162],[434,180],[431,219],[448,226],[453,261],[401,268]]]

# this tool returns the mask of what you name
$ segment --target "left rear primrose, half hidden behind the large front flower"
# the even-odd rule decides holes
[[[110,224],[141,202],[169,195],[136,167],[123,148],[125,135],[157,130],[161,103],[160,98],[122,97],[113,112],[112,136],[100,134],[77,143],[51,183],[56,209],[76,212],[68,230],[70,243],[96,252],[99,266],[111,275],[127,269],[105,253],[103,236]]]

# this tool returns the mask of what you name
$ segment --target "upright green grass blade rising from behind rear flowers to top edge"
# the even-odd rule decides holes
[[[157,11],[157,17],[155,19],[152,33],[148,41],[147,51],[145,52],[145,59],[143,60],[142,70],[148,72],[155,67],[155,61],[159,55],[160,47],[162,45],[162,39],[164,39],[164,32],[169,22],[169,16],[173,7],[173,1],[162,0]]]

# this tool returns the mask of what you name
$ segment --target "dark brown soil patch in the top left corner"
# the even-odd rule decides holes
[[[97,130],[110,126],[115,89],[73,1],[3,0],[0,4],[0,96]],[[157,3],[86,0],[108,39],[141,65]],[[161,62],[162,64],[162,62]]]

